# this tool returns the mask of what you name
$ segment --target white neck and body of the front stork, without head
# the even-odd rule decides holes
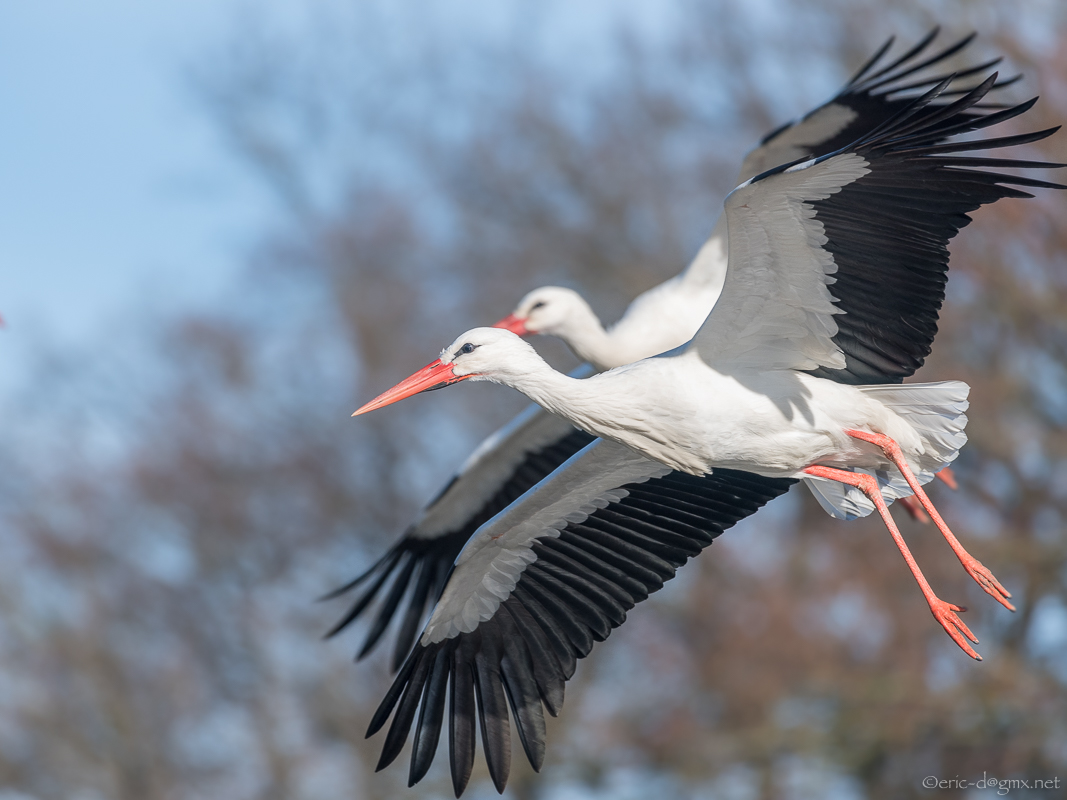
[[[704,364],[696,348],[584,381],[526,370],[507,383],[578,428],[672,469],[703,475],[724,467],[774,478],[803,478],[815,463],[892,468],[879,448],[846,435],[849,428],[895,439],[917,473],[928,471],[931,461],[943,466],[947,454],[928,452],[906,418],[910,410],[902,415],[879,396],[950,387],[966,397],[957,382],[865,387],[793,370],[728,375]]]

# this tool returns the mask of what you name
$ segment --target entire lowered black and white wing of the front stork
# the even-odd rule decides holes
[[[421,780],[445,725],[459,797],[475,729],[504,791],[510,716],[534,769],[577,659],[727,528],[796,481],[716,469],[671,471],[596,441],[482,526],[464,548],[426,630],[367,732],[389,725],[378,769],[415,726],[409,785]],[[416,720],[417,713],[417,720]]]

